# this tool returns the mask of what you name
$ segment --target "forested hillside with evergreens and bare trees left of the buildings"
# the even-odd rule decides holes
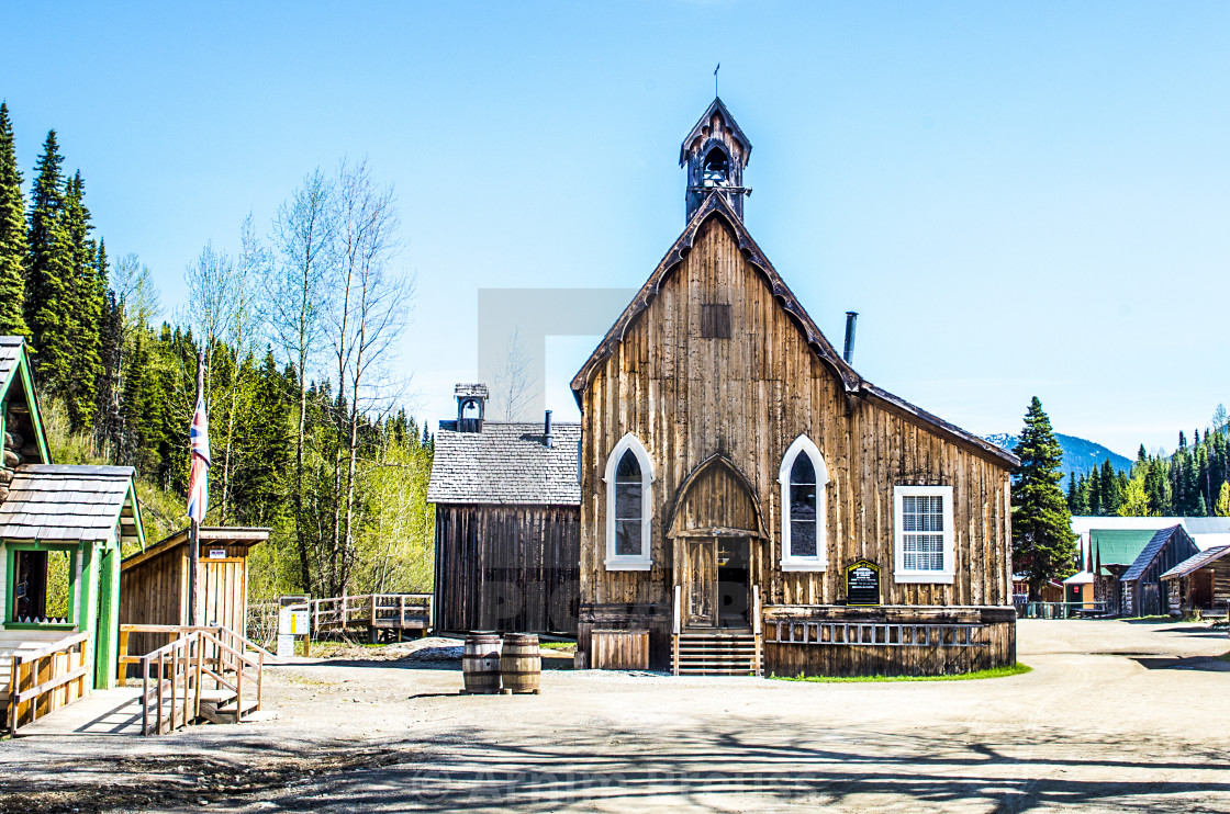
[[[407,416],[413,280],[392,189],[365,164],[310,172],[277,216],[205,243],[188,304],[108,257],[55,130],[28,199],[0,105],[0,333],[27,338],[55,462],[134,466],[150,542],[187,524],[187,429],[203,359],[213,468],[207,524],[264,525],[253,600],[426,590],[432,438]]]

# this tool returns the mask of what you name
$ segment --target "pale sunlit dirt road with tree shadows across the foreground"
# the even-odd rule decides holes
[[[274,668],[278,718],[0,744],[0,812],[1230,812],[1221,631],[1025,621],[1033,673],[800,684],[455,663]]]

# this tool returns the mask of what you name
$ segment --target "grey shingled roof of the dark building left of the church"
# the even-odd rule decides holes
[[[541,423],[488,421],[482,432],[459,433],[456,422],[440,422],[428,502],[579,505],[581,424],[551,430],[547,448]]]

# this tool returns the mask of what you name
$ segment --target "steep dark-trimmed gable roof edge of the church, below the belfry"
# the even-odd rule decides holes
[[[611,328],[606,332],[606,336],[603,337],[603,341],[598,343],[597,348],[594,348],[594,352],[589,355],[585,364],[582,365],[581,370],[577,371],[577,375],[573,376],[572,392],[577,398],[578,405],[582,403],[581,395],[589,385],[598,365],[615,352],[615,348],[624,341],[624,337],[636,322],[637,317],[649,307],[649,304],[654,299],[657,299],[663,283],[665,283],[670,273],[678,268],[680,263],[683,263],[684,257],[686,257],[688,252],[691,251],[692,243],[696,241],[696,236],[700,234],[701,227],[708,221],[710,218],[720,218],[731,227],[738,240],[739,251],[743,253],[743,257],[765,277],[774,300],[792,317],[795,325],[798,326],[798,330],[803,333],[803,338],[806,339],[808,348],[811,348],[812,353],[814,353],[820,362],[833,371],[849,396],[867,398],[891,411],[902,413],[905,418],[913,419],[914,422],[935,430],[937,434],[947,437],[958,444],[974,450],[983,457],[994,460],[1001,466],[1015,467],[1020,464],[1020,460],[1012,452],[1001,449],[973,433],[961,429],[956,424],[951,424],[942,418],[932,416],[925,409],[915,407],[904,398],[894,396],[860,376],[854,368],[846,364],[845,359],[841,358],[841,354],[838,353],[836,348],[833,347],[833,344],[820,332],[820,328],[815,325],[815,322],[812,321],[812,317],[798,301],[798,298],[790,290],[790,286],[786,285],[781,274],[777,273],[777,269],[772,267],[772,263],[770,263],[769,258],[765,257],[763,251],[760,251],[755,240],[752,239],[747,226],[743,225],[743,220],[739,219],[734,209],[731,208],[726,197],[717,193],[711,193],[704,205],[696,210],[691,221],[688,223],[683,234],[667,252],[665,257],[662,258],[662,262],[658,263],[653,274],[651,274],[649,279],[645,282],[641,290],[636,293],[632,301],[627,304],[624,312],[620,314],[617,320],[615,320],[615,325],[611,326]]]

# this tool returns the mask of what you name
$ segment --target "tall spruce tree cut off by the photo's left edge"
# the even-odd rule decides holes
[[[0,333],[30,337],[26,305],[26,198],[9,106],[0,102]]]

